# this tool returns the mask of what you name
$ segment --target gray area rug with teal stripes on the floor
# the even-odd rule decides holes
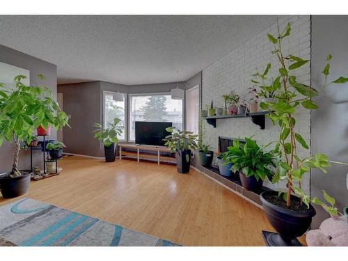
[[[31,198],[0,207],[0,246],[179,246]]]

